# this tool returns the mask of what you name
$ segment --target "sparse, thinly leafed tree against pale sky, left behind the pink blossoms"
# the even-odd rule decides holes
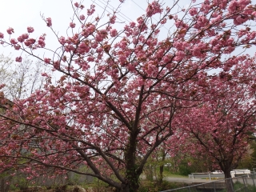
[[[49,67],[43,62],[24,58],[18,63],[12,61],[10,55],[0,55],[0,80],[5,85],[2,91],[11,101],[17,98],[27,98],[35,90],[41,90],[43,73],[51,74]]]

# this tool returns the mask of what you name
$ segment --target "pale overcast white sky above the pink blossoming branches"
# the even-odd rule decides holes
[[[106,3],[107,0],[94,1],[96,3],[96,11],[101,13],[102,8],[100,6],[103,7],[104,5],[102,3]],[[182,3],[190,1],[191,0],[182,0]],[[152,0],[150,0],[150,2],[152,2]],[[167,5],[173,1],[165,0],[163,2]],[[14,28],[14,34],[11,35],[11,38],[18,38],[19,35],[27,33],[27,26],[33,26],[34,33],[31,37],[38,38],[41,34],[46,34],[47,48],[56,48],[58,42],[50,28],[47,27],[46,23],[42,20],[40,14],[43,14],[46,18],[52,18],[54,30],[59,34],[63,34],[63,36],[65,36],[70,18],[73,16],[70,0],[0,0],[0,3],[0,32],[5,34],[6,40],[9,38],[6,33],[7,28]],[[110,5],[115,7],[118,6],[119,3],[119,0],[110,1]],[[85,6],[90,6],[90,4],[92,4],[92,0],[84,0],[83,2]],[[181,6],[184,5],[185,4],[182,4]],[[126,0],[125,3],[122,4],[121,13],[134,21],[140,15],[144,14],[142,8],[146,10],[146,6],[147,0]],[[122,20],[124,21],[123,18]],[[13,48],[0,46],[0,54],[11,54],[12,58],[15,58],[19,56],[20,53],[20,51],[14,50]]]

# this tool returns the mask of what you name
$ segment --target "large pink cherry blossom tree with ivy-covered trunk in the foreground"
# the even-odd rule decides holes
[[[46,47],[46,34],[33,38],[31,26],[18,38],[11,27],[7,38],[0,33],[4,46],[62,74],[57,84],[42,74],[44,90],[12,105],[2,95],[1,170],[20,168],[32,178],[52,167],[56,174],[73,171],[137,191],[150,154],[176,131],[177,114],[204,102],[207,72],[230,70],[233,55],[255,44],[249,0],[193,0],[186,10],[179,4],[153,1],[137,21],[117,30],[118,9],[97,16],[95,5],[84,11],[72,2],[65,37],[43,18],[58,38],[57,50]],[[164,27],[170,30],[162,37]],[[90,170],[78,170],[81,165]]]

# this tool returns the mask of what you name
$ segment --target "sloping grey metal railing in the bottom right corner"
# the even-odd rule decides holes
[[[245,174],[235,178],[226,178],[214,182],[195,183],[174,190],[162,192],[256,192],[256,173]]]

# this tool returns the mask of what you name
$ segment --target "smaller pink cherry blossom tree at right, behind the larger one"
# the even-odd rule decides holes
[[[232,59],[230,62],[237,62],[235,66],[205,82],[209,90],[205,102],[183,110],[177,118],[178,129],[182,130],[179,137],[190,140],[190,152],[208,154],[225,178],[231,178],[230,171],[250,149],[248,142],[256,126],[255,58]]]

